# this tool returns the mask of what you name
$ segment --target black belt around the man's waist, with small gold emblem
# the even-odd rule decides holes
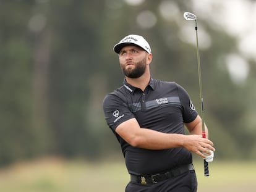
[[[141,183],[141,184],[147,184],[147,183],[158,183],[164,180],[167,180],[168,178],[177,177],[181,175],[182,173],[185,173],[189,170],[194,170],[193,164],[187,164],[187,165],[181,165],[180,167],[176,167],[172,170],[169,170],[165,173],[157,173],[155,175],[130,175],[130,181]]]

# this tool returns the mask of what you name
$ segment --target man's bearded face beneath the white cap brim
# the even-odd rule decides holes
[[[148,53],[137,46],[125,46],[119,52],[119,62],[126,77],[139,78],[145,73]]]

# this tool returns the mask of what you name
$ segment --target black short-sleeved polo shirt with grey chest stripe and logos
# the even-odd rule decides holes
[[[185,148],[134,148],[115,131],[122,122],[135,118],[143,128],[184,134],[184,123],[192,122],[197,111],[187,91],[177,83],[150,79],[142,91],[124,80],[121,88],[106,95],[103,110],[106,122],[121,144],[129,173],[152,175],[192,162],[192,154]]]

